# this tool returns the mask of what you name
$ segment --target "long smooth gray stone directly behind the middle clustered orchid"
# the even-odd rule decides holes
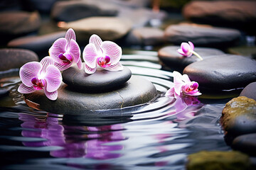
[[[65,31],[49,33],[46,35],[32,35],[16,38],[8,43],[8,47],[24,48],[36,52],[39,57],[49,55],[48,50],[58,38],[64,38]]]

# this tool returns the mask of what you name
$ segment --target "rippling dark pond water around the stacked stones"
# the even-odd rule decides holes
[[[96,111],[97,118],[36,111],[16,91],[18,77],[1,79],[10,91],[0,99],[1,169],[186,169],[188,154],[230,150],[219,119],[233,95],[167,98],[172,73],[156,55],[138,50],[122,57],[133,75],[156,86],[154,101]]]

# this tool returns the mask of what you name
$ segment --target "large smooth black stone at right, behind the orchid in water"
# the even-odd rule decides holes
[[[183,74],[206,89],[234,89],[256,81],[256,61],[239,55],[218,55],[189,64]]]

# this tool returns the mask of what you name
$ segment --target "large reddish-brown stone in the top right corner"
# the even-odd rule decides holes
[[[183,7],[182,13],[187,20],[196,23],[240,28],[254,33],[255,8],[256,1],[191,1]]]

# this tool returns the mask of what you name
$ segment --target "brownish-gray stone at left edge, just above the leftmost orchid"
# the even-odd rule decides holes
[[[0,49],[0,71],[16,69],[27,62],[38,62],[38,55],[31,50],[3,48]]]

